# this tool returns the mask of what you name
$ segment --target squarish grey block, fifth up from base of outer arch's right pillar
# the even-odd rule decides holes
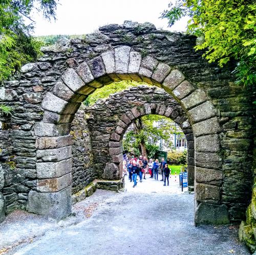
[[[196,137],[195,144],[195,150],[197,152],[218,152],[220,150],[220,138],[218,134]]]

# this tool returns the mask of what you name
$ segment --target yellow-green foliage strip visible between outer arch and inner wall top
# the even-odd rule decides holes
[[[104,87],[96,89],[95,92],[93,92],[93,94],[88,96],[88,98],[86,99],[86,101],[83,102],[83,104],[87,106],[93,105],[98,99],[108,98],[111,94],[138,85],[140,85],[140,83],[134,81],[113,82],[109,85],[105,85]]]

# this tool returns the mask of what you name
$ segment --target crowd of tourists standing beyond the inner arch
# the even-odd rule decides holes
[[[159,163],[159,160],[156,159],[155,161],[151,158],[150,161],[147,160],[147,158],[141,155],[137,159],[134,155],[128,159],[127,155],[123,155],[123,172],[124,175],[129,174],[129,180],[130,182],[134,182],[133,187],[136,187],[137,185],[137,177],[139,176],[140,182],[142,182],[143,179],[146,179],[146,173],[150,173],[150,178],[155,178],[155,180],[158,180],[158,171],[161,170],[162,179],[160,181],[164,181],[163,186],[169,186],[169,175],[170,175],[170,169],[168,168],[168,165],[164,158],[161,158],[161,162]]]

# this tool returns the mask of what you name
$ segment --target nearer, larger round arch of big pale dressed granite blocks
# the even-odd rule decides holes
[[[202,177],[200,171],[221,170],[222,159],[218,154],[218,134],[221,128],[217,110],[205,92],[191,84],[177,68],[150,56],[142,57],[141,53],[131,47],[119,46],[90,61],[82,62],[76,68],[68,68],[42,101],[44,118],[34,128],[37,136],[38,180],[37,191],[32,191],[29,195],[30,212],[55,218],[70,214],[70,122],[80,103],[96,88],[120,80],[144,81],[156,85],[181,104],[195,135],[196,180],[199,181]],[[205,146],[206,138],[209,146]],[[63,165],[66,167],[63,168]],[[215,175],[216,171],[210,178],[214,180]],[[215,199],[211,201],[212,194]],[[38,201],[42,207],[38,208]],[[211,216],[205,218],[205,212],[210,211],[214,211],[215,223],[227,223],[226,207],[220,205],[220,187],[206,187],[205,184],[196,183],[196,201],[196,223],[211,223]],[[210,203],[205,203],[209,201]]]

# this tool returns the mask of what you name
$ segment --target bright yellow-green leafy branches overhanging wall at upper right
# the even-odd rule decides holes
[[[233,73],[237,84],[253,88],[256,84],[256,4],[255,0],[177,0],[162,13],[169,26],[189,16],[187,33],[204,36],[196,50],[210,63],[221,67],[237,61]]]

